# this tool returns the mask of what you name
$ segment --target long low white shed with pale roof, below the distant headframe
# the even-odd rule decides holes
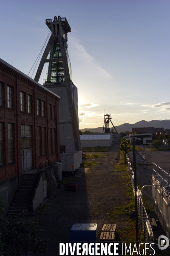
[[[110,147],[112,145],[112,140],[112,134],[80,135],[82,147]]]

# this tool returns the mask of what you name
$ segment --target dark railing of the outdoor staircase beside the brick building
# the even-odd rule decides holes
[[[28,210],[32,211],[33,210],[33,200],[34,200],[34,197],[35,197],[35,194],[36,194],[36,189],[38,187],[38,184],[40,182],[40,178],[41,178],[41,175],[46,172],[46,171],[50,171],[53,173],[54,177],[55,177],[55,180],[57,182],[57,187],[58,187],[58,176],[54,170],[54,167],[51,163],[50,160],[45,160],[43,162],[41,162],[39,164],[39,167],[38,167],[38,170],[37,170],[37,173],[36,173],[36,176],[35,176],[35,179],[34,179],[34,183],[31,187],[31,192],[29,194],[29,205],[28,205]]]

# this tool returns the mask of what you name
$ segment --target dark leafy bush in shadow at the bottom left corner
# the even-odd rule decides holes
[[[0,198],[0,256],[20,256],[30,251],[42,253],[46,251],[44,244],[49,239],[42,240],[37,233],[42,231],[35,220],[22,219],[16,215],[5,215],[5,205]]]

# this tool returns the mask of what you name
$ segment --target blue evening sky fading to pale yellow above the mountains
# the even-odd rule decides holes
[[[103,126],[105,113],[115,126],[170,119],[169,0],[0,2],[0,58],[26,75],[47,38],[45,19],[67,18],[80,129]]]

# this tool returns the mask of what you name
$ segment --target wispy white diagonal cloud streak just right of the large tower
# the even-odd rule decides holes
[[[87,65],[90,72],[93,70],[93,75],[102,77],[103,79],[112,79],[113,77],[100,66],[100,64],[89,55],[85,47],[82,46],[80,40],[75,38],[73,35],[69,35],[69,52],[82,64]]]

